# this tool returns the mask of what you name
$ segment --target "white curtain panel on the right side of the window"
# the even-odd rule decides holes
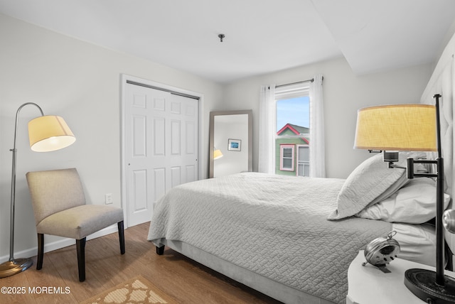
[[[324,145],[324,112],[322,75],[315,75],[310,84],[310,177],[326,177],[326,151]]]

